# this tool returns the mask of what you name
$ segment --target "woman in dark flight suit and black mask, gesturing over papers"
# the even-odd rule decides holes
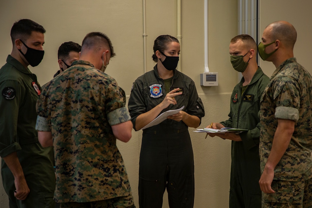
[[[168,110],[183,110],[144,128],[139,162],[139,206],[161,208],[168,192],[170,208],[193,207],[194,159],[188,127],[205,115],[195,83],[176,70],[178,39],[161,35],[154,41],[154,70],[138,77],[129,98],[129,112],[138,131]]]

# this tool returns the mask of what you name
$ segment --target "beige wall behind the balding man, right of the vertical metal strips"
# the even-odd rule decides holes
[[[290,22],[297,30],[297,42],[294,48],[294,56],[298,63],[304,66],[312,74],[311,64],[311,8],[310,0],[261,0],[260,1],[260,39],[265,27],[274,21],[285,20]],[[277,9],[279,8],[279,9]],[[269,77],[275,70],[272,62],[260,61],[260,66]]]

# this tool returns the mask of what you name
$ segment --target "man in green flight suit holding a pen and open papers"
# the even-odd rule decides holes
[[[211,128],[248,129],[240,134],[215,134],[232,141],[230,178],[230,208],[261,207],[259,136],[260,98],[269,82],[256,62],[257,45],[249,35],[238,35],[230,43],[230,60],[233,68],[243,77],[232,92],[229,119],[212,123]],[[209,126],[207,126],[209,127]]]

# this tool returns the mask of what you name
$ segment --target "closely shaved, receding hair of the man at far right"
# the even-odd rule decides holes
[[[285,44],[286,47],[294,48],[297,40],[297,31],[295,27],[289,22],[276,21],[272,22],[266,27],[272,27],[271,38],[272,41],[280,40]]]

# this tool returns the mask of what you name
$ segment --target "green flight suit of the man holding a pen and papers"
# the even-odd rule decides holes
[[[249,129],[240,133],[242,141],[232,141],[229,207],[261,207],[260,180],[260,110],[261,95],[269,83],[260,67],[242,95],[241,79],[232,92],[229,119],[225,127]]]

